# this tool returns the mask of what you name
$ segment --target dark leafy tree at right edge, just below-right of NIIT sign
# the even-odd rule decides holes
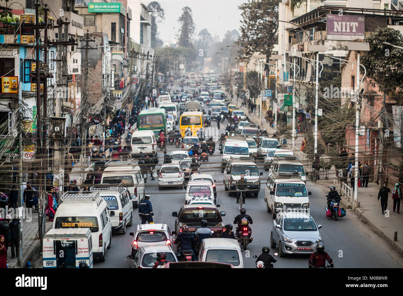
[[[383,44],[388,42],[403,47],[403,36],[400,31],[378,27],[364,41],[370,43],[370,51],[364,51],[360,62],[367,70],[369,82],[387,94],[403,84],[403,50]]]

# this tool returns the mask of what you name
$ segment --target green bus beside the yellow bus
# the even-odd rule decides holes
[[[163,129],[166,134],[165,109],[149,108],[142,110],[137,120],[137,128],[139,131],[153,131],[157,139],[161,129]]]

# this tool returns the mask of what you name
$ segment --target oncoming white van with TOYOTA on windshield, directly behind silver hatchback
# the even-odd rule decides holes
[[[277,212],[285,212],[287,209],[307,212],[311,194],[299,174],[269,174],[264,192],[266,210],[272,213],[273,219]]]

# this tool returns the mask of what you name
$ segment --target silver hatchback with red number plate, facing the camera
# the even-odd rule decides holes
[[[280,212],[273,221],[270,247],[278,246],[278,255],[311,254],[322,241],[314,219],[305,212]]]

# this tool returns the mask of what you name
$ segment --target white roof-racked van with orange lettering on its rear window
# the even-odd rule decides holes
[[[89,228],[92,256],[104,262],[106,249],[112,246],[112,224],[108,205],[99,191],[78,194],[66,192],[60,200],[52,228]]]

